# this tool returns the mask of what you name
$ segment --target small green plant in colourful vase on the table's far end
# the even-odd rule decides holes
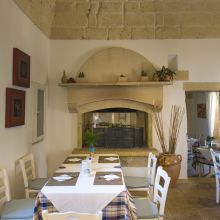
[[[85,145],[89,147],[90,156],[93,157],[95,153],[95,145],[98,141],[98,135],[94,134],[92,129],[86,129],[83,136],[83,140]]]

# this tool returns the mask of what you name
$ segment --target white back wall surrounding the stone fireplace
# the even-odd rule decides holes
[[[134,50],[149,61],[155,67],[167,65],[168,55],[178,55],[178,69],[189,70],[190,81],[216,82],[220,81],[220,40],[115,40],[115,41],[51,41],[51,71],[49,74],[49,131],[50,148],[49,171],[63,159],[59,157],[71,152],[76,146],[77,116],[69,114],[67,110],[66,88],[58,86],[62,72],[65,69],[68,77],[76,76],[76,73],[85,60],[97,52],[109,46],[119,46]],[[185,107],[185,92],[182,82],[174,82],[172,86],[164,87],[163,115],[166,123],[169,122],[170,109],[173,104]],[[183,156],[180,178],[187,176],[187,121],[186,115],[181,126],[177,143],[177,153]],[[168,136],[168,135],[167,135]],[[158,139],[154,133],[153,145],[160,149]]]

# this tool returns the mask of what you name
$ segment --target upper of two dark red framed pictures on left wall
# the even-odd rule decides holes
[[[13,48],[13,85],[30,88],[30,56]]]

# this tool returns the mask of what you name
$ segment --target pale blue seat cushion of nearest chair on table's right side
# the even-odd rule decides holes
[[[134,204],[137,208],[138,219],[151,219],[159,216],[157,205],[150,199],[134,198]]]

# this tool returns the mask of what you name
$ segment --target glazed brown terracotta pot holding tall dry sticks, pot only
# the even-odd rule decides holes
[[[158,165],[162,166],[171,177],[170,187],[175,187],[179,178],[182,156],[180,154],[160,154],[158,157]]]

